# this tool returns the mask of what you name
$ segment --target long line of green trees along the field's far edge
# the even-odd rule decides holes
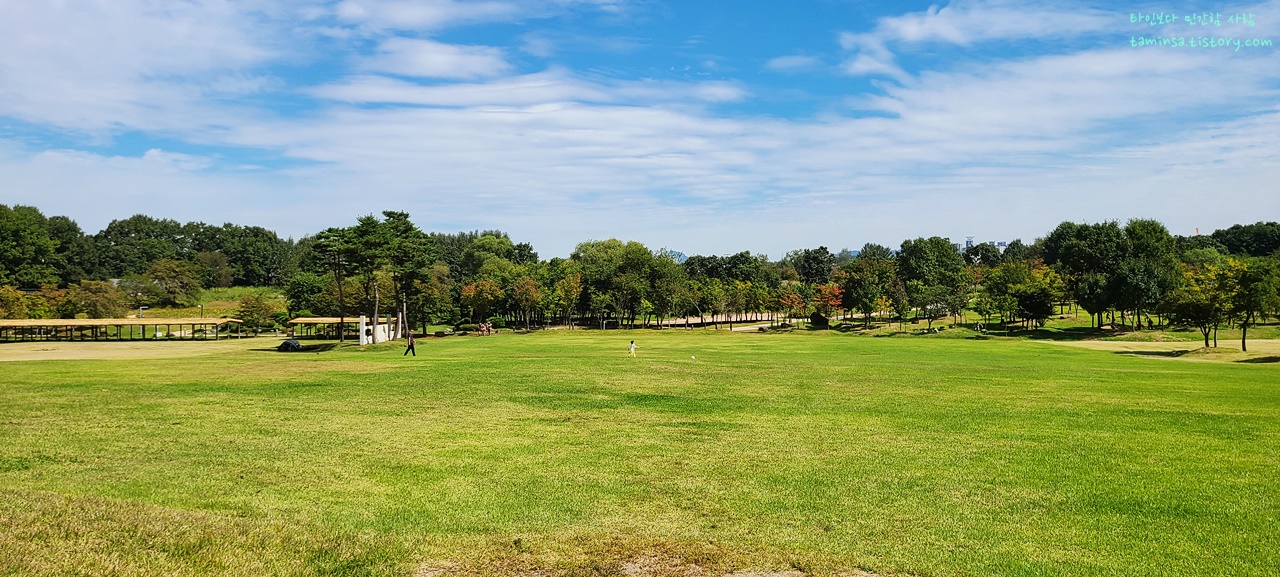
[[[1042,325],[1078,307],[1094,326],[1194,326],[1206,345],[1219,326],[1248,328],[1280,310],[1280,224],[1208,235],[1170,234],[1158,221],[1062,223],[1002,251],[957,251],[945,238],[868,243],[780,260],[739,252],[685,256],[636,242],[588,241],[540,260],[500,230],[419,229],[407,212],[367,215],[298,241],[259,226],[136,215],[84,234],[65,216],[0,205],[0,315],[118,316],[182,306],[210,287],[276,287],[291,315],[392,312],[412,326],[498,321],[609,328],[741,317],[940,319],[969,312],[1000,326]]]

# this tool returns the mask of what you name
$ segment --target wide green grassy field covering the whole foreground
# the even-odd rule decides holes
[[[1276,357],[948,333],[0,363],[0,574],[1280,572]]]

